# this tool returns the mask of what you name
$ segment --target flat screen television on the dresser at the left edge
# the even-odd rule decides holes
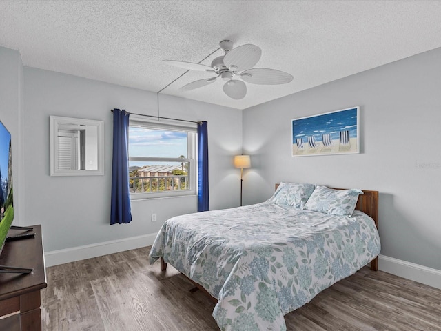
[[[5,246],[10,228],[28,232],[32,228],[13,227],[14,221],[14,190],[12,188],[12,147],[11,134],[0,121],[0,255]],[[19,239],[17,236],[13,239]],[[7,267],[0,265],[0,273],[30,273],[32,269]]]

